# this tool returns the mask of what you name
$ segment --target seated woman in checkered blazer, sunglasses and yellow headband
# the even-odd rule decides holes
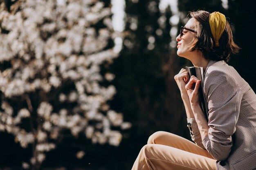
[[[219,12],[191,12],[177,37],[177,55],[203,67],[208,120],[199,105],[200,80],[185,69],[175,75],[191,138],[155,132],[132,170],[256,169],[256,95],[236,70],[226,64],[239,47],[229,23]]]

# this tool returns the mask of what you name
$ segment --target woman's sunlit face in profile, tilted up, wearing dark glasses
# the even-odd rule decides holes
[[[186,25],[185,28],[195,30],[195,18],[191,18]],[[195,30],[196,31],[196,30]],[[195,33],[188,31],[186,29],[183,30],[182,38],[180,38],[180,35],[177,36],[177,55],[180,57],[184,57],[189,59],[189,55],[191,55],[193,52],[189,50],[191,44],[193,43],[193,40],[195,39]]]

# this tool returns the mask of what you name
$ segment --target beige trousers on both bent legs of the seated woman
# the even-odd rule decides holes
[[[149,137],[132,170],[216,170],[216,160],[193,142],[159,131]]]

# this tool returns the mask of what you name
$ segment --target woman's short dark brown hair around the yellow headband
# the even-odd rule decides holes
[[[226,20],[225,30],[222,33],[219,44],[215,46],[213,35],[209,24],[210,13],[207,11],[193,11],[189,12],[192,18],[195,18],[196,39],[191,45],[191,51],[202,51],[205,59],[228,62],[230,54],[238,53],[240,47],[233,41],[232,31],[229,22]]]

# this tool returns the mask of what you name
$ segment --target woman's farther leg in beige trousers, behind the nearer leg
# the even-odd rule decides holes
[[[171,146],[173,148],[177,148],[180,150],[184,150],[187,152],[191,152],[197,155],[202,155],[204,157],[213,159],[213,157],[209,154],[207,150],[200,148],[195,143],[189,141],[188,139],[185,139],[184,137],[180,137],[169,132],[155,132],[148,138],[148,144],[161,144]]]

